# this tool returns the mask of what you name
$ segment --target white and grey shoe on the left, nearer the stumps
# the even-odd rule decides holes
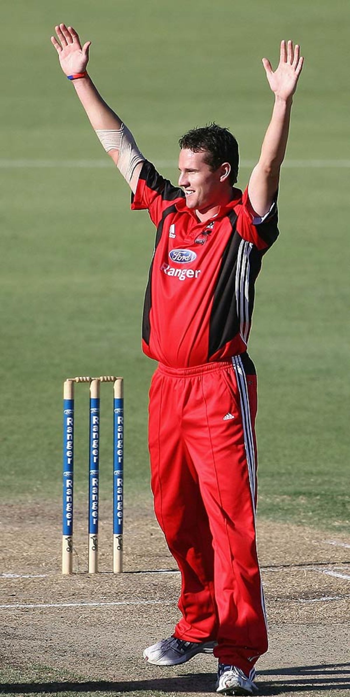
[[[162,639],[148,646],[143,656],[153,666],[177,666],[179,663],[189,661],[197,653],[213,653],[215,644],[215,641],[195,643],[170,636],[169,639]]]

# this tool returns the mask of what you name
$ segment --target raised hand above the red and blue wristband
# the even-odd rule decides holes
[[[89,61],[91,41],[86,41],[82,47],[73,26],[66,26],[66,24],[55,26],[55,31],[59,40],[52,36],[51,43],[59,54],[59,62],[65,75],[84,72]]]

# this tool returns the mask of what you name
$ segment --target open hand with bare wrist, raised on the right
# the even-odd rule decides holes
[[[287,100],[296,91],[298,77],[303,68],[304,59],[300,56],[300,47],[298,44],[293,47],[292,41],[287,45],[285,41],[281,41],[280,63],[275,72],[267,58],[263,58],[262,62],[272,91],[277,97]]]

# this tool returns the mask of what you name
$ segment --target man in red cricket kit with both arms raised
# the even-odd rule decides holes
[[[169,666],[213,650],[219,694],[252,694],[268,647],[255,538],[257,377],[247,353],[254,283],[275,242],[277,188],[303,58],[280,45],[273,114],[248,187],[238,144],[215,123],[179,141],[178,187],[142,155],[86,72],[90,42],[56,26],[52,44],[102,146],[156,227],[142,347],[158,361],[149,406],[155,514],[181,571],[174,634],[144,650]]]

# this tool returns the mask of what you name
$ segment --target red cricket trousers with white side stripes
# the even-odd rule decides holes
[[[268,647],[251,367],[247,354],[188,369],[159,365],[149,406],[155,515],[181,571],[174,636],[218,641],[215,656],[248,675]]]

